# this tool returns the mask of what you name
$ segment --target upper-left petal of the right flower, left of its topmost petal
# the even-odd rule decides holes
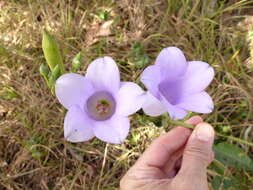
[[[155,97],[159,98],[158,85],[161,82],[160,67],[152,65],[147,67],[141,74],[141,82]]]

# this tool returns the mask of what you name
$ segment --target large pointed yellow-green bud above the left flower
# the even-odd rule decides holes
[[[59,65],[61,73],[65,72],[60,49],[56,40],[47,31],[43,31],[42,49],[51,71],[56,65]]]

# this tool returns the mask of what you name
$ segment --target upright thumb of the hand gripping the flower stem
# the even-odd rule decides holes
[[[179,174],[205,177],[206,167],[213,154],[214,130],[208,123],[200,123],[193,130],[184,150]]]

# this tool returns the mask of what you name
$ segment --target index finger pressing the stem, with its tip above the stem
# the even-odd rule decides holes
[[[202,118],[199,116],[194,116],[187,121],[187,123],[193,125],[200,122],[202,122]],[[170,132],[157,138],[144,152],[138,162],[147,166],[163,168],[173,153],[185,145],[190,134],[191,130],[184,127],[172,129]]]

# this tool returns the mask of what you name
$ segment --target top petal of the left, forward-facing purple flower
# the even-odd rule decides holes
[[[116,92],[120,86],[119,69],[111,57],[102,57],[91,62],[86,77],[96,90],[111,90]]]

